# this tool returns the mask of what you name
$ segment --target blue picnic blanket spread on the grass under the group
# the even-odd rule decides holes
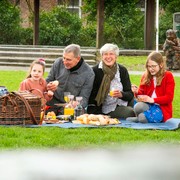
[[[60,127],[60,128],[132,128],[132,129],[157,129],[157,130],[176,130],[180,128],[180,119],[171,118],[165,123],[135,123],[126,120],[120,120],[120,124],[107,125],[107,126],[95,126],[86,124],[73,124],[73,123],[63,123],[63,124],[42,124],[42,125],[27,125],[26,127]]]

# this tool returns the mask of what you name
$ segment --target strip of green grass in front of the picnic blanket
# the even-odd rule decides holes
[[[120,147],[131,144],[180,144],[180,131],[123,128],[0,127],[0,149]]]

